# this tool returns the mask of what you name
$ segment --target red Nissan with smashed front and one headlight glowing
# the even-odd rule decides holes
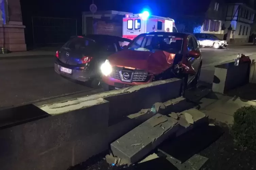
[[[183,93],[188,85],[197,85],[201,66],[201,51],[193,35],[145,33],[102,64],[102,86],[112,90],[177,77],[183,80]]]

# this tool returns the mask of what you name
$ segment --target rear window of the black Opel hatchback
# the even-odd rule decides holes
[[[93,40],[86,38],[73,38],[69,40],[63,47],[73,50],[84,50],[91,49],[96,46],[96,43]]]

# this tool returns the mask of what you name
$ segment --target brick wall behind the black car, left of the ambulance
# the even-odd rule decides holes
[[[123,28],[120,22],[106,22],[98,20],[95,26],[95,34],[104,34],[122,37]]]

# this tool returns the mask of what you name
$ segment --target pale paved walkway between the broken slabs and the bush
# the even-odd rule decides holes
[[[210,119],[232,125],[234,121],[233,115],[237,109],[243,106],[256,106],[255,94],[256,84],[252,83],[231,90],[227,95],[212,92],[200,100],[200,111],[208,115]],[[240,98],[241,95],[246,99]]]

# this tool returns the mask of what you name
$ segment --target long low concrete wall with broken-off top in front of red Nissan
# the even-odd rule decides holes
[[[64,170],[86,161],[153,116],[141,109],[177,98],[180,85],[180,79],[170,79],[60,103],[35,104],[38,111],[33,112],[49,115],[0,128],[1,169]],[[176,100],[181,103],[178,109],[188,109],[184,102],[184,98]],[[175,105],[175,101],[169,103]],[[13,115],[21,114],[14,110]]]

